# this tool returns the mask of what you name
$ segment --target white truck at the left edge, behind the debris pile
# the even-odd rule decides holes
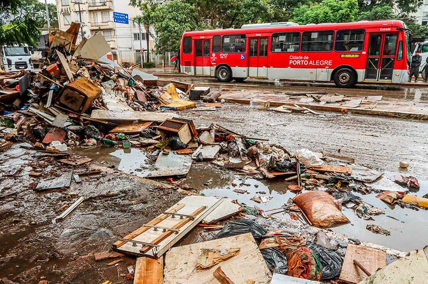
[[[16,72],[21,69],[32,71],[34,69],[31,61],[33,49],[28,45],[3,46],[1,50],[2,69],[6,72]]]

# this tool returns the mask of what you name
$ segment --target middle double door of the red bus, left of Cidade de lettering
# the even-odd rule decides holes
[[[267,77],[267,37],[250,38],[248,76]]]

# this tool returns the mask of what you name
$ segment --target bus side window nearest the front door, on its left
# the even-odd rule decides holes
[[[361,51],[364,47],[364,29],[342,29],[336,32],[335,51]]]

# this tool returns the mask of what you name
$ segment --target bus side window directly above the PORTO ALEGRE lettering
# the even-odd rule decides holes
[[[305,31],[302,34],[302,51],[333,50],[334,31]]]

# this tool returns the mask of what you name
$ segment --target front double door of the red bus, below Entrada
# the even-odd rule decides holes
[[[392,81],[398,33],[371,33],[365,80]]]

